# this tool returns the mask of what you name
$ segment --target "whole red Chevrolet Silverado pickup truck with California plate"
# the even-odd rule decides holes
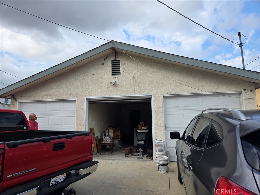
[[[91,132],[33,131],[24,113],[0,110],[0,193],[50,194],[96,171]]]

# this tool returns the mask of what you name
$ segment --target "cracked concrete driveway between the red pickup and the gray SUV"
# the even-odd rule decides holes
[[[161,173],[151,159],[125,157],[127,147],[115,148],[113,154],[109,149],[96,154],[93,160],[99,161],[97,170],[67,189],[73,187],[77,195],[185,194],[183,185],[178,181],[176,162],[168,164],[169,173]]]

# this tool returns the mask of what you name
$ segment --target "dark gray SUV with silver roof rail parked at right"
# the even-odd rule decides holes
[[[187,194],[260,194],[260,110],[205,109],[170,138]]]

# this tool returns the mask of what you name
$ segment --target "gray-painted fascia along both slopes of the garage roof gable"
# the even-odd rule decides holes
[[[216,64],[216,63],[212,63],[212,62],[206,62],[206,61],[202,61],[202,60],[197,60],[197,59],[178,56],[178,55],[174,55],[174,54],[164,53],[164,52],[161,52],[161,51],[156,51],[156,50],[147,49],[147,48],[143,48],[143,47],[133,46],[133,45],[120,43],[120,42],[116,42],[116,41],[110,41],[108,43],[105,43],[105,44],[97,47],[97,48],[94,48],[90,51],[87,51],[84,54],[76,56],[76,57],[74,57],[70,60],[67,60],[67,61],[62,62],[60,64],[57,64],[56,66],[48,68],[47,70],[43,70],[40,73],[37,73],[33,76],[30,76],[26,79],[19,81],[19,82],[11,84],[10,86],[1,89],[0,94],[2,95],[2,94],[5,94],[5,93],[8,93],[12,90],[15,90],[16,88],[19,88],[19,87],[24,86],[28,83],[31,83],[31,82],[36,81],[38,79],[41,79],[44,76],[47,76],[47,75],[52,74],[54,72],[57,72],[57,71],[59,71],[63,68],[69,67],[69,66],[71,66],[71,65],[73,65],[77,62],[80,62],[84,59],[87,59],[91,56],[94,56],[98,53],[101,53],[102,51],[110,49],[111,47],[114,47],[118,50],[131,51],[131,52],[134,52],[134,53],[143,54],[143,55],[147,55],[147,56],[151,56],[151,57],[155,57],[155,58],[159,58],[159,59],[169,60],[169,61],[173,61],[173,62],[179,62],[179,63],[183,63],[183,64],[188,64],[188,65],[191,65],[191,66],[206,68],[206,69],[209,69],[209,70],[215,70],[215,71],[218,71],[218,72],[229,73],[229,74],[233,74],[233,75],[247,77],[247,78],[250,78],[250,79],[260,80],[260,73],[252,72],[252,71],[249,71],[249,70],[244,70],[244,69],[239,69],[239,68],[235,68],[235,67],[225,66],[225,65],[222,65],[222,64]]]

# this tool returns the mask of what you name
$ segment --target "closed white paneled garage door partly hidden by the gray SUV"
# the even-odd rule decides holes
[[[166,151],[170,152],[171,161],[177,161],[177,157],[176,140],[170,139],[170,132],[179,131],[182,135],[192,118],[207,108],[241,109],[239,97],[239,94],[165,96]]]

